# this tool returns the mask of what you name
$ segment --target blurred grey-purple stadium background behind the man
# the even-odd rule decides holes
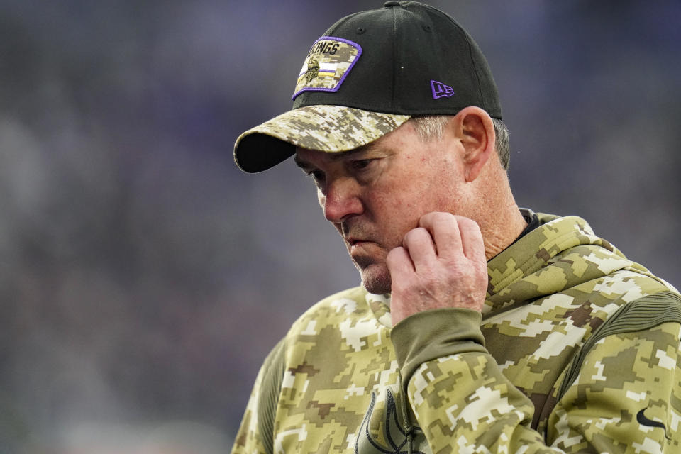
[[[430,1],[485,51],[521,206],[681,284],[681,3]],[[223,453],[260,361],[358,284],[237,135],[381,1],[0,0],[0,452]]]

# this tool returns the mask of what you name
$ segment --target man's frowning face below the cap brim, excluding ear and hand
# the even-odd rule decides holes
[[[462,146],[424,142],[411,122],[345,153],[299,148],[296,163],[317,187],[326,219],[341,233],[368,292],[390,292],[385,259],[431,211],[466,215]]]

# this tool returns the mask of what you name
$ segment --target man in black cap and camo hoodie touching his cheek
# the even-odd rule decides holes
[[[519,209],[485,57],[411,1],[341,19],[237,164],[316,184],[362,287],[265,360],[234,453],[677,453],[681,297]]]

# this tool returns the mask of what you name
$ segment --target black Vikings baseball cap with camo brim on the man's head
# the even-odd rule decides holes
[[[241,170],[267,170],[296,147],[353,150],[411,116],[478,106],[502,118],[497,86],[475,41],[452,17],[416,1],[387,1],[334,23],[312,44],[292,99],[290,111],[236,140]]]

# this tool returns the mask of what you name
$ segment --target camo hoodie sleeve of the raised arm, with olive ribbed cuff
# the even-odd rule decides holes
[[[445,309],[393,328],[402,387],[433,453],[680,452],[679,323],[594,345],[546,437],[531,428],[532,402],[485,350],[479,326],[470,311]]]

